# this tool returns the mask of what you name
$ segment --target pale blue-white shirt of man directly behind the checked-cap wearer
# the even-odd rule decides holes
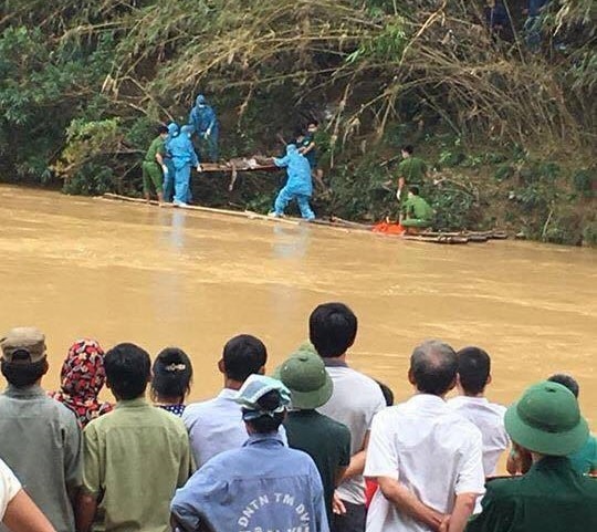
[[[220,452],[238,449],[249,438],[242,420],[242,408],[234,401],[238,392],[223,388],[213,399],[188,405],[182,421],[189,432],[195,463],[201,467]],[[280,427],[286,442],[286,432]]]

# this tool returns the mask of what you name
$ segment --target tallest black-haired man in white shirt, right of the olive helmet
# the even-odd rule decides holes
[[[336,490],[338,510],[343,511],[334,515],[332,526],[338,532],[365,530],[365,453],[373,418],[386,407],[377,383],[350,368],[346,362],[357,327],[356,315],[344,303],[321,304],[308,320],[311,343],[334,383],[332,397],[318,411],[350,431],[350,463]]]

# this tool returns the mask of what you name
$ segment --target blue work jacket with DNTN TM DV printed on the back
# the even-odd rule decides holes
[[[320,473],[311,457],[274,435],[251,436],[177,490],[171,511],[189,530],[329,532]]]

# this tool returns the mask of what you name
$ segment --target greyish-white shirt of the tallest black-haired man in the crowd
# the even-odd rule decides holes
[[[345,363],[334,358],[323,361],[334,382],[334,392],[317,410],[348,427],[350,453],[355,455],[363,449],[374,416],[386,408],[384,394],[373,378],[350,369]],[[337,492],[343,501],[365,504],[365,480],[362,476],[344,481]]]

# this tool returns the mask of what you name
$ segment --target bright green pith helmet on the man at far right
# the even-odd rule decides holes
[[[589,435],[576,397],[565,386],[549,380],[527,388],[507,409],[504,421],[513,441],[548,456],[576,452]]]

